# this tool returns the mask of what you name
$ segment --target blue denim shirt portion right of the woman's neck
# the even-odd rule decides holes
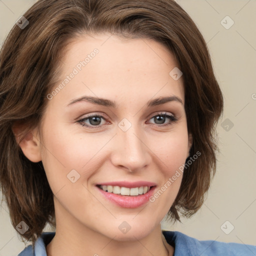
[[[256,246],[220,242],[215,240],[197,240],[178,231],[165,231],[166,241],[175,248],[174,256],[255,256]]]

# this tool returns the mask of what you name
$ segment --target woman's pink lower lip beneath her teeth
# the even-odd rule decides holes
[[[104,191],[103,189],[96,186],[96,188],[101,192],[101,194],[110,200],[111,202],[119,205],[123,208],[137,208],[146,202],[148,202],[149,197],[153,194],[155,186],[151,187],[148,192],[145,194],[139,195],[121,195],[121,194],[114,194]]]

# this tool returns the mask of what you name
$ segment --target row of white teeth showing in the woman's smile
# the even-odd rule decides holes
[[[109,193],[121,194],[121,195],[145,194],[150,189],[150,186],[140,186],[140,187],[128,188],[128,187],[124,187],[124,186],[100,185],[99,187]]]

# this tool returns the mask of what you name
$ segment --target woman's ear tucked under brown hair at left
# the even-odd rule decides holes
[[[13,126],[12,131],[18,143],[19,136],[22,132],[23,126]],[[26,133],[25,137],[18,144],[23,154],[32,162],[39,162],[41,160],[40,141],[37,138],[37,128]]]

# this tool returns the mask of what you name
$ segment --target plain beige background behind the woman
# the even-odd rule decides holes
[[[33,2],[0,0],[0,43]],[[192,17],[207,42],[224,94],[224,114],[218,125],[221,153],[207,199],[192,218],[174,225],[162,221],[162,228],[178,230],[197,239],[256,245],[256,1],[177,2]],[[229,29],[220,23],[227,15],[234,21]],[[231,20],[223,21],[228,25]],[[224,129],[226,118],[233,123],[228,131]],[[222,229],[228,232],[233,225],[229,234],[221,229],[227,220]],[[18,239],[3,203],[0,207],[0,256],[16,256],[23,248],[24,243]]]

